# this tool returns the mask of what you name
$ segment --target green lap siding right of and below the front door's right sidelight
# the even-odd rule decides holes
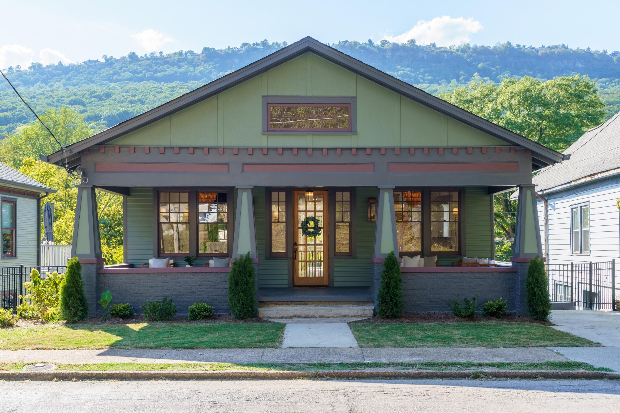
[[[366,287],[373,285],[374,232],[376,223],[368,222],[368,198],[377,198],[376,188],[357,188],[355,215],[356,231],[352,234],[357,243],[357,255],[334,259],[334,287]],[[334,237],[332,237],[333,239]]]

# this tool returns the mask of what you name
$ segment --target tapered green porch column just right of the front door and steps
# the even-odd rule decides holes
[[[385,258],[390,251],[398,253],[393,186],[379,186],[377,228],[374,233],[374,258]]]

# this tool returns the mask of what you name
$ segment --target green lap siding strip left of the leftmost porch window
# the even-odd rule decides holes
[[[148,263],[153,258],[153,188],[130,188],[126,214],[127,261]]]

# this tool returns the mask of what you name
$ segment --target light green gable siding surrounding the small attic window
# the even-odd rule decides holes
[[[262,134],[262,96],[355,96],[357,134]],[[174,116],[176,120],[174,120]],[[137,131],[110,141],[125,146],[426,147],[506,142],[401,97],[312,53],[246,80]]]

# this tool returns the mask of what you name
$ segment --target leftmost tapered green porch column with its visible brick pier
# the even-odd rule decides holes
[[[71,256],[78,257],[82,264],[84,293],[88,300],[90,313],[96,312],[97,275],[104,266],[99,239],[99,217],[97,216],[97,197],[94,186],[78,187],[76,218],[73,227]]]

